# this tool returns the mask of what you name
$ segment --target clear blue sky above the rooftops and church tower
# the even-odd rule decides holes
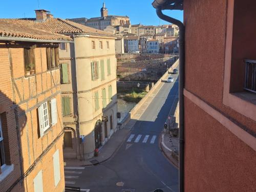
[[[35,17],[34,10],[46,9],[51,11],[54,17],[97,17],[100,16],[100,8],[103,0],[13,0],[1,1],[0,18]],[[152,7],[153,0],[105,0],[106,8],[111,15],[127,15],[132,25],[141,23],[143,25],[159,25],[160,19]],[[182,11],[165,11],[175,18],[183,20]],[[167,24],[161,20],[161,25]]]

